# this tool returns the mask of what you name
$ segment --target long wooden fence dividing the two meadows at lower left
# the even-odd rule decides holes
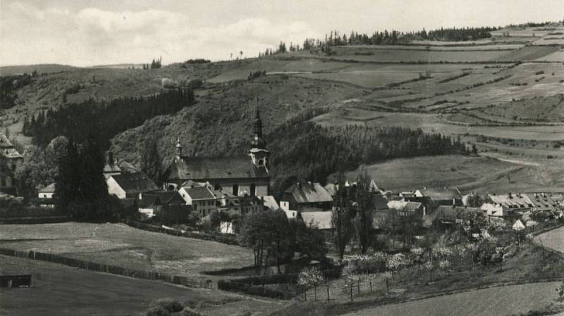
[[[135,277],[137,279],[158,280],[172,284],[180,284],[190,287],[203,287],[213,288],[212,282],[209,279],[195,280],[189,277],[178,275],[164,274],[160,272],[128,269],[125,267],[118,267],[116,265],[105,265],[102,263],[92,263],[90,261],[63,257],[54,253],[40,253],[39,251],[17,251],[13,249],[0,248],[0,255],[11,255],[19,258],[30,258],[34,260],[47,261],[49,263],[59,263],[61,265],[68,265],[71,267],[78,267],[80,269],[92,270],[97,272],[106,272],[111,274],[123,275],[125,277]]]

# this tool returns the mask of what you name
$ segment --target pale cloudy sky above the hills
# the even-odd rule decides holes
[[[0,0],[0,65],[218,61],[330,30],[563,19],[564,0]]]

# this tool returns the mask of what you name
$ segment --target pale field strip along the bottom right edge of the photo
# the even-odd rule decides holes
[[[554,303],[559,282],[522,284],[438,296],[408,303],[367,308],[348,316],[505,316],[527,314]],[[438,308],[440,307],[440,308]]]

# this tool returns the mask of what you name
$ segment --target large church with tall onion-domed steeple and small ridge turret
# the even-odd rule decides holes
[[[164,189],[180,189],[185,182],[208,182],[216,191],[233,196],[269,195],[269,151],[262,138],[259,108],[255,115],[254,137],[246,156],[190,157],[182,155],[180,137],[176,141],[176,155],[163,172]]]

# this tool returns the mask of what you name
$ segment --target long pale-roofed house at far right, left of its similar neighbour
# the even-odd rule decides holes
[[[491,217],[519,216],[534,208],[526,194],[488,194],[480,208]]]

